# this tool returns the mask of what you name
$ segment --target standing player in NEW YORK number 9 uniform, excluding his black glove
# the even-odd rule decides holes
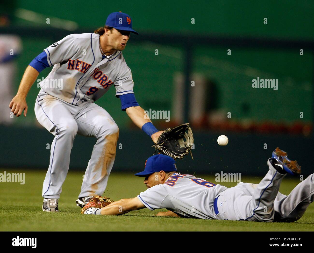
[[[119,129],[109,113],[94,101],[111,86],[121,100],[121,109],[154,142],[158,131],[145,116],[133,92],[133,79],[122,51],[132,29],[131,17],[122,12],[109,14],[105,27],[94,33],[70,34],[48,46],[26,68],[17,95],[9,107],[17,117],[27,114],[26,95],[38,74],[53,66],[43,80],[35,104],[37,120],[55,138],[43,184],[42,210],[58,211],[61,186],[69,169],[70,152],[76,134],[96,137],[77,204],[81,207],[107,186],[115,156]],[[82,151],[84,152],[84,151]]]

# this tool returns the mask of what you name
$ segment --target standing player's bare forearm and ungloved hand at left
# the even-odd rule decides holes
[[[26,117],[28,109],[26,104],[26,96],[38,75],[39,72],[35,68],[27,66],[23,78],[21,80],[21,83],[19,85],[19,90],[9,105],[11,112],[13,112],[14,115],[16,115],[17,117],[19,117],[22,114],[23,110],[24,117]]]

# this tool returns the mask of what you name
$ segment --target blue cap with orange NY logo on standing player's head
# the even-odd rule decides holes
[[[106,20],[106,25],[118,30],[130,31],[132,33],[138,34],[138,32],[132,29],[132,19],[130,15],[121,11],[110,13]]]

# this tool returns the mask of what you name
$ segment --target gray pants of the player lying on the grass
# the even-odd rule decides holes
[[[314,174],[300,182],[288,196],[279,192],[280,174],[271,164],[259,184],[239,183],[219,193],[217,207],[220,220],[293,222],[302,217],[314,201]]]

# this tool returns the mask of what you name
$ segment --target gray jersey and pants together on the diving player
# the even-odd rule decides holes
[[[164,184],[137,197],[150,210],[166,208],[186,218],[264,222],[300,219],[314,201],[314,174],[286,196],[279,192],[285,175],[277,172],[269,160],[268,167],[259,184],[239,183],[231,188],[175,173]]]

